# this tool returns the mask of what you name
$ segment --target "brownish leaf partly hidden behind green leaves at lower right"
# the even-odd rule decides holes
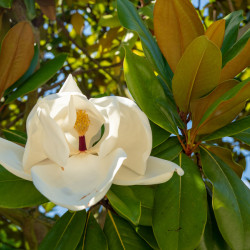
[[[221,160],[223,160],[228,166],[230,166],[233,171],[241,178],[244,171],[243,166],[234,161],[232,152],[227,148],[207,146],[206,147],[210,152],[217,155]]]

